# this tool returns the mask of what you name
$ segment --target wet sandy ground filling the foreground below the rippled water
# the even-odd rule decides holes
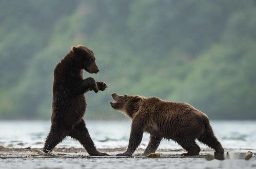
[[[213,154],[211,150],[202,150],[199,156],[180,156],[182,149],[160,149],[159,158],[141,156],[143,149],[138,149],[132,157],[116,157],[115,154],[124,152],[126,148],[99,149],[110,156],[92,157],[84,149],[55,148],[51,154],[37,148],[4,148],[0,147],[0,168],[254,168],[255,156],[250,160],[229,159],[210,160],[206,157]],[[231,155],[245,154],[255,150],[229,149]],[[244,158],[244,157],[243,157]]]

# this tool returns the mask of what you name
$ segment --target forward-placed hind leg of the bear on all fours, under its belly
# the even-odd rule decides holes
[[[194,139],[179,139],[176,140],[183,149],[188,153],[183,153],[182,156],[196,156],[199,155],[200,147],[195,143]]]

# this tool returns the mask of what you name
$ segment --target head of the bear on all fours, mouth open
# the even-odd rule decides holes
[[[114,100],[114,102],[110,102],[111,107],[115,110],[122,111],[130,118],[139,110],[140,101],[143,99],[139,95],[119,95],[113,93],[111,96]]]

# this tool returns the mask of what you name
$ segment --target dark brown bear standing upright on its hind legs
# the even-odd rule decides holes
[[[73,46],[54,69],[51,129],[44,152],[52,151],[66,136],[70,136],[80,141],[91,156],[107,155],[96,150],[83,117],[86,110],[84,93],[103,91],[107,85],[95,82],[93,78],[84,79],[84,69],[90,74],[99,72],[93,52],[82,45]]]

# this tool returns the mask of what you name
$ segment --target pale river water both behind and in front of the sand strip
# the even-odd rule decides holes
[[[99,149],[124,148],[128,146],[131,122],[129,120],[87,120],[87,128]],[[216,137],[225,150],[231,153],[248,150],[256,153],[256,121],[255,120],[211,120],[211,126]],[[0,153],[1,146],[9,148],[10,154],[17,153],[11,148],[43,148],[44,140],[50,129],[50,121],[39,120],[0,120]],[[139,148],[145,149],[149,135],[144,134]],[[202,150],[209,150],[199,143]],[[58,148],[82,148],[80,143],[67,137]],[[162,152],[161,152],[162,149]],[[174,141],[163,140],[159,152],[178,150],[181,147]],[[3,149],[2,149],[3,150]],[[164,151],[163,151],[164,150]],[[226,151],[227,152],[227,151]],[[2,151],[3,153],[3,151]],[[8,152],[7,152],[8,153]],[[156,158],[145,157],[116,158],[112,152],[108,157],[91,158],[0,158],[0,168],[255,168],[255,157],[250,161],[211,160],[204,158]],[[175,153],[175,152],[174,152]],[[82,154],[84,154],[82,152]],[[201,154],[205,154],[204,151]],[[1,155],[1,154],[0,154]]]

